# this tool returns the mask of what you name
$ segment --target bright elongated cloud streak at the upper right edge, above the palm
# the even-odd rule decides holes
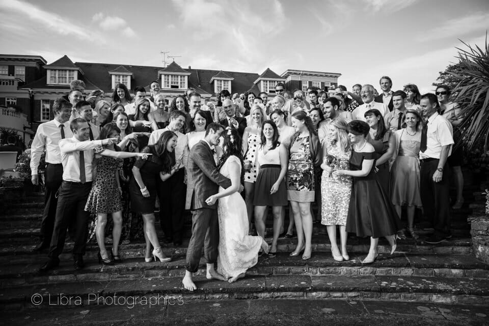
[[[423,32],[418,38],[420,41],[432,41],[444,38],[453,38],[454,35],[467,35],[472,32],[484,32],[489,24],[489,13],[476,13],[465,17],[447,20],[441,26]]]

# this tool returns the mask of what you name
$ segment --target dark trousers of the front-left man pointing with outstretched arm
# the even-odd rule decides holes
[[[85,254],[90,213],[85,211],[85,204],[92,189],[92,183],[70,183],[63,181],[59,190],[56,208],[55,228],[52,232],[48,256],[58,258],[65,246],[66,231],[71,224],[74,227],[73,254]]]

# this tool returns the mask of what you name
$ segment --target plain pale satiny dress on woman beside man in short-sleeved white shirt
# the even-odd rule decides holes
[[[399,153],[391,168],[391,194],[394,205],[407,204],[421,207],[421,183],[418,140],[402,140],[399,142]]]

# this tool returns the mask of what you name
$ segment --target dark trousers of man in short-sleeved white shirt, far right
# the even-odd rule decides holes
[[[432,221],[434,234],[450,234],[450,195],[448,164],[443,167],[442,181],[434,182],[433,173],[440,160],[421,161],[421,201],[425,217]]]

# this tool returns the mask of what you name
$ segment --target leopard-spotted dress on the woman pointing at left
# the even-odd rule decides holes
[[[100,153],[103,147],[97,147],[95,153]],[[116,182],[116,170],[119,167],[120,160],[101,156],[96,158],[97,175],[95,182],[92,184],[92,190],[85,204],[85,211],[92,214],[104,213],[111,214],[122,211],[122,202],[119,189]]]

